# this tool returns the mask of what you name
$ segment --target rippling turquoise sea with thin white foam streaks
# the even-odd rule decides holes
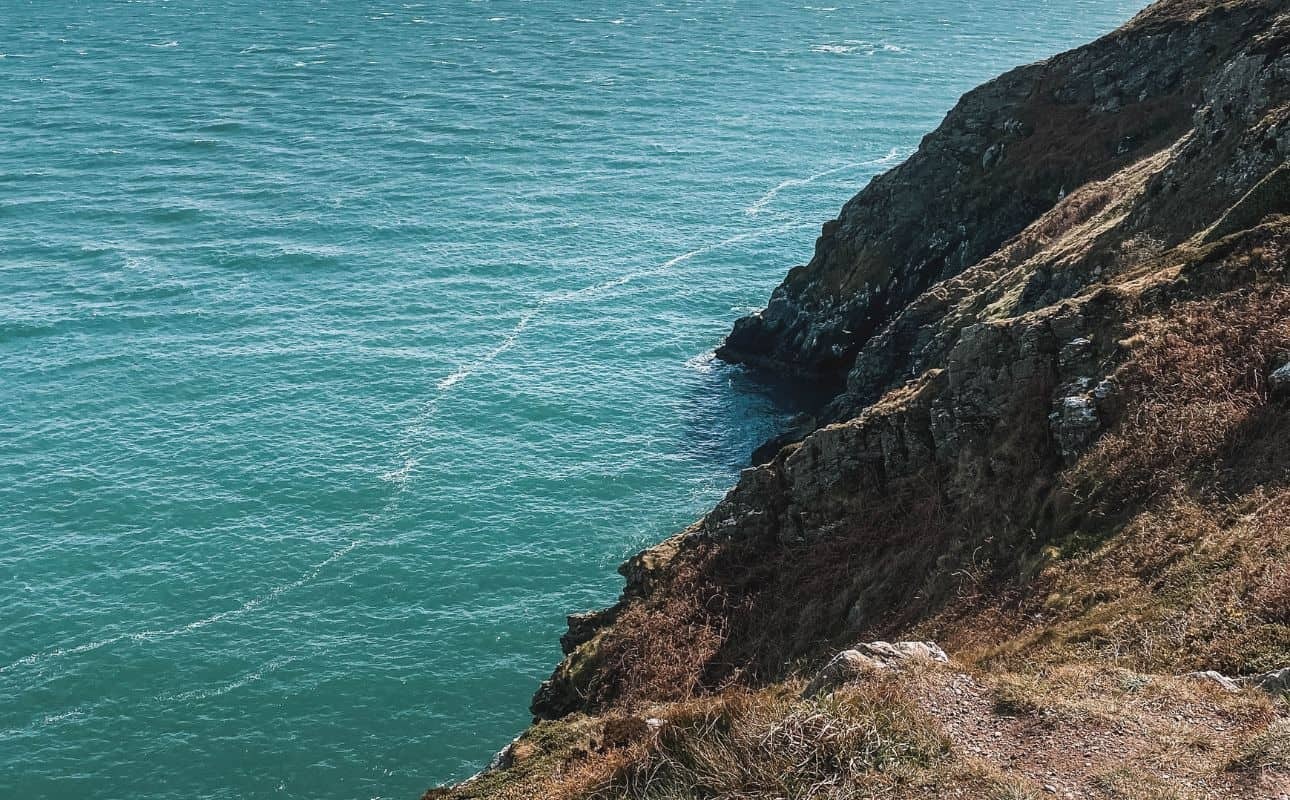
[[[792,410],[711,357],[1142,0],[0,0],[0,797],[415,797]]]

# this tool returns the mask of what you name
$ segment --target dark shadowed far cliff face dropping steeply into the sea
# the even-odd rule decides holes
[[[930,286],[1068,192],[1176,142],[1272,5],[1157,5],[1089,46],[969,92],[908,161],[824,223],[810,263],[739,320],[717,355],[791,375],[846,373]]]

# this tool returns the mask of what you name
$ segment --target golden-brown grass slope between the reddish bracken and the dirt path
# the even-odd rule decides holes
[[[1171,498],[1098,550],[1057,561],[1029,603],[1042,622],[983,654],[1237,675],[1290,662],[1290,626],[1275,604],[1290,560],[1290,492],[1255,497],[1246,514]]]

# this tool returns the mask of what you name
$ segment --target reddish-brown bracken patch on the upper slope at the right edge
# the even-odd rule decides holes
[[[1125,413],[1072,474],[1111,503],[1179,488],[1249,488],[1285,480],[1284,409],[1269,409],[1267,375],[1290,356],[1290,290],[1232,292],[1143,320],[1116,373]],[[1273,463],[1249,463],[1276,445]],[[1280,472],[1280,475],[1277,474]]]

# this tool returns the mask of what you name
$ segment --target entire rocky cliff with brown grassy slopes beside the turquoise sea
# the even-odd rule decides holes
[[[432,794],[1286,796],[1287,154],[1285,0],[966,94],[719,350],[832,382],[828,425],[628,561],[543,721]]]

